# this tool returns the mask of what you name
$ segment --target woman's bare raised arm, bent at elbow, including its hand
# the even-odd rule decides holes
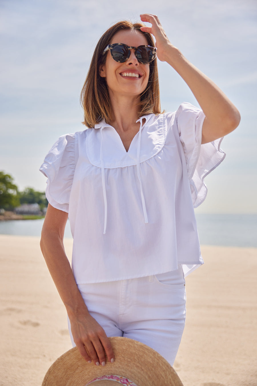
[[[157,16],[140,15],[143,22],[152,27],[141,27],[155,36],[157,56],[169,63],[187,83],[205,114],[202,129],[202,144],[214,141],[232,132],[240,122],[240,113],[228,97],[212,80],[191,64],[171,44]]]

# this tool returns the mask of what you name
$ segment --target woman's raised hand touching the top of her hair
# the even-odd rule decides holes
[[[173,47],[171,42],[169,41],[167,35],[165,34],[165,31],[163,27],[161,26],[160,20],[156,15],[150,15],[150,14],[143,14],[140,15],[140,18],[142,22],[148,22],[151,23],[151,27],[141,27],[141,31],[143,32],[149,32],[155,37],[155,45],[157,48],[156,54],[160,61],[165,62],[167,61],[167,49],[168,47]]]

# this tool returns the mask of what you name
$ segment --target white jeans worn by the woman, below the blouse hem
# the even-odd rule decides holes
[[[79,284],[89,313],[106,335],[138,340],[173,365],[185,326],[186,294],[182,267],[143,278]],[[75,346],[69,332],[73,347]]]

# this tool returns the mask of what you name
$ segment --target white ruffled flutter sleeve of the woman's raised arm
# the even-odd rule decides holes
[[[205,115],[198,107],[182,103],[176,111],[176,123],[185,154],[193,205],[197,208],[205,200],[207,186],[204,179],[223,161],[226,154],[220,149],[223,138],[201,144]]]

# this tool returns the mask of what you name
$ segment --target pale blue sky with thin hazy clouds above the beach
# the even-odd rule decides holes
[[[257,213],[256,0],[0,0],[0,170],[19,190],[45,190],[45,154],[60,135],[84,130],[79,95],[97,41],[142,13],[159,17],[172,44],[241,114],[196,212]],[[198,106],[168,63],[158,61],[158,70],[166,112]]]

